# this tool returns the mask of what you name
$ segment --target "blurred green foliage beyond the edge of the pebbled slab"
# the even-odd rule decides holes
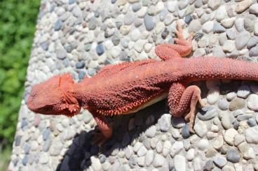
[[[0,1],[0,143],[4,149],[10,149],[15,134],[39,5],[40,0]]]

